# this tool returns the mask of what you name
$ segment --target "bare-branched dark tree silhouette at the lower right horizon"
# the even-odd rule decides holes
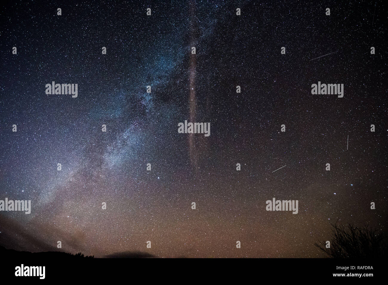
[[[325,242],[315,246],[331,258],[382,258],[387,253],[385,233],[368,226],[358,227],[351,224],[339,226],[331,224],[332,236],[330,248]]]

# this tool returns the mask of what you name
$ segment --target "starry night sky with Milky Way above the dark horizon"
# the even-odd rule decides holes
[[[71,2],[2,5],[0,199],[32,209],[0,212],[0,245],[324,257],[330,223],[387,232],[384,1]],[[298,214],[266,211],[274,197]]]

